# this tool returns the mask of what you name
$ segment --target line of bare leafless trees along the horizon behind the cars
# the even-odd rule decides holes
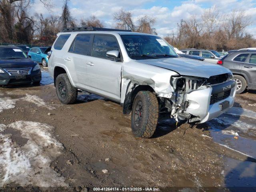
[[[105,27],[96,16],[75,19],[68,6],[70,0],[63,0],[62,14],[45,17],[30,15],[33,0],[0,0],[0,42],[18,44],[52,45],[56,34],[63,28],[76,26]],[[38,6],[52,8],[51,0],[40,0]],[[132,12],[120,10],[113,15],[115,24],[111,28],[157,34],[156,18],[144,15],[134,18]],[[176,32],[168,34],[167,42],[178,48],[205,48],[233,50],[256,46],[256,40],[246,32],[252,24],[243,11],[233,10],[222,15],[216,7],[207,9],[201,16],[180,20]]]

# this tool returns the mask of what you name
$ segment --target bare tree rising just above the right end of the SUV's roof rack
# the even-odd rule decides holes
[[[114,14],[114,20],[116,20],[116,28],[123,30],[136,31],[135,24],[132,21],[132,13],[129,11],[120,10]]]

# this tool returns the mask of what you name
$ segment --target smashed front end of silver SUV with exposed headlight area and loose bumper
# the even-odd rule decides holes
[[[232,74],[210,78],[172,76],[172,97],[160,97],[160,110],[170,113],[171,118],[188,123],[203,123],[215,118],[234,104],[236,83]]]

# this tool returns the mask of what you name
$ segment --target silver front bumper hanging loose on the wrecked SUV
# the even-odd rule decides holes
[[[194,90],[186,95],[189,102],[186,112],[198,117],[200,123],[207,122],[232,108],[235,94],[236,82],[233,80]],[[225,101],[228,101],[228,107],[222,109],[220,104]]]

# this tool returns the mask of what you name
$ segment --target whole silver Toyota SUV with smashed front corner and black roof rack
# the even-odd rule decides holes
[[[132,132],[150,138],[160,113],[204,123],[234,104],[229,69],[179,57],[161,37],[102,28],[66,29],[49,53],[49,72],[64,104],[85,90],[118,102]]]

